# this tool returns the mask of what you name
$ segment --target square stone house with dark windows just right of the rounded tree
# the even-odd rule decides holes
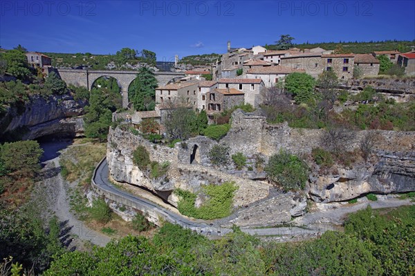
[[[353,78],[354,54],[322,55],[324,70],[333,71],[339,79]]]

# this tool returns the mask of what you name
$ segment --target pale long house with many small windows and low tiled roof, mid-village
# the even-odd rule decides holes
[[[234,88],[244,93],[245,103],[259,106],[259,96],[265,84],[262,79],[219,79],[219,89]]]

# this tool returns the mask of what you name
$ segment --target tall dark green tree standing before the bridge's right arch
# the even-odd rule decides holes
[[[149,68],[141,67],[137,78],[133,80],[128,89],[129,101],[133,103],[135,110],[154,110],[157,86],[154,73]]]

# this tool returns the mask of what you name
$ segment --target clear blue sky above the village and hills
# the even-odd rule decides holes
[[[306,41],[415,39],[415,1],[0,1],[0,46],[113,54],[121,48],[174,55],[223,53]]]

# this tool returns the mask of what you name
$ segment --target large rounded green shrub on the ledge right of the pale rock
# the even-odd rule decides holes
[[[265,171],[268,178],[284,190],[303,189],[308,179],[308,167],[297,156],[285,150],[270,157]]]

